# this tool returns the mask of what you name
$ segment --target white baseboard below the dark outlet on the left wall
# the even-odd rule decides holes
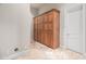
[[[19,56],[24,55],[29,50],[21,51],[21,52],[17,52],[15,54],[9,55],[7,57],[2,57],[2,60],[16,60]]]

